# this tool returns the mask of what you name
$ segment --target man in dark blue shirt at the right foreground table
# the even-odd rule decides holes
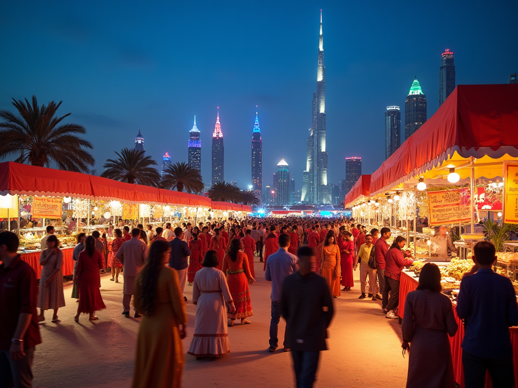
[[[457,316],[464,319],[462,363],[466,388],[485,385],[486,370],[494,387],[514,387],[513,349],[509,327],[518,325],[518,306],[511,280],[493,272],[495,246],[473,247],[475,265],[464,275]]]

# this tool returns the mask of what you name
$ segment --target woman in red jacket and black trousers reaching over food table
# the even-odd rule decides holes
[[[397,306],[399,304],[399,279],[403,267],[412,264],[411,259],[405,259],[401,249],[406,240],[403,236],[394,239],[385,256],[385,288],[383,289],[383,304],[387,307],[383,310],[386,318],[398,319]],[[390,293],[390,299],[389,299]]]

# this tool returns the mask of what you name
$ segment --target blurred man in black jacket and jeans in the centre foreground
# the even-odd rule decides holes
[[[315,253],[297,250],[298,272],[282,285],[281,314],[286,320],[284,340],[291,349],[297,387],[312,387],[320,351],[326,350],[327,327],[333,319],[333,299],[326,280],[314,273]]]

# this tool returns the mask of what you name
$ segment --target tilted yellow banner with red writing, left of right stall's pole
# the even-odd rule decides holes
[[[449,225],[471,221],[469,189],[428,191],[429,225]]]

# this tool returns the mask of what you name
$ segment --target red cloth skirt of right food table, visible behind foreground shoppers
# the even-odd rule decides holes
[[[399,317],[402,319],[405,311],[405,301],[407,294],[418,288],[418,280],[410,277],[405,272],[401,272],[401,281],[399,283]],[[464,323],[457,317],[457,309],[453,307],[453,314],[457,321],[458,330],[457,333],[450,338],[452,360],[453,360],[453,374],[455,381],[461,384],[464,388],[464,370],[462,366],[462,340],[464,338]],[[511,334],[511,344],[513,346],[514,353],[514,386],[518,388],[518,327],[511,327],[509,329]],[[411,345],[410,345],[411,346]],[[486,388],[491,388],[491,378],[489,375],[486,376]]]

